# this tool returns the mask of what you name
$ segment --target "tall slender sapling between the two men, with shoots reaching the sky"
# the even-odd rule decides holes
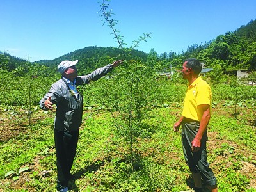
[[[146,41],[147,38],[150,38],[150,34],[144,33],[144,36],[140,36],[139,40],[135,40],[133,42],[133,45],[131,45],[129,52],[125,52],[124,46],[127,44],[125,44],[123,36],[120,35],[120,31],[116,29],[116,24],[118,23],[118,20],[113,19],[112,10],[109,10],[109,4],[106,3],[108,1],[109,0],[103,0],[102,4],[100,4],[100,14],[101,17],[104,17],[104,20],[102,21],[104,23],[108,23],[109,28],[111,28],[111,30],[113,31],[113,36],[116,40],[116,43],[118,44],[118,48],[122,51],[122,56],[124,60],[127,60],[127,55],[131,54],[131,51],[138,47],[141,41]],[[122,111],[124,112],[124,114],[122,116],[124,116],[124,120],[121,119],[118,122],[120,124],[120,127],[122,127],[122,130],[124,130],[124,132],[121,132],[121,135],[124,136],[126,140],[129,140],[129,159],[131,162],[133,172],[135,165],[133,145],[134,141],[136,141],[134,140],[134,136],[137,136],[137,134],[141,134],[141,132],[144,131],[145,129],[145,127],[142,127],[142,120],[143,115],[147,113],[147,108],[145,108],[145,104],[148,104],[148,100],[146,100],[146,97],[149,96],[149,94],[148,89],[145,89],[145,84],[147,82],[145,82],[145,79],[143,79],[143,77],[145,77],[145,74],[147,76],[147,73],[146,70],[143,70],[145,69],[145,67],[141,65],[141,61],[130,61],[130,63],[127,63],[127,61],[124,62],[126,74],[128,76],[127,81],[125,81],[125,83],[127,84],[124,84],[124,87],[127,88],[125,90],[125,95],[127,95],[125,100],[127,100],[128,103],[126,105],[123,102]],[[127,106],[127,108],[125,108],[125,106]],[[118,108],[120,107],[118,106]]]

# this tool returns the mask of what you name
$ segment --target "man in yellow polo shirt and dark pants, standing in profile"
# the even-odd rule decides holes
[[[174,124],[174,131],[182,125],[182,147],[186,163],[192,172],[195,191],[202,191],[202,181],[210,191],[218,191],[217,180],[207,162],[207,125],[211,117],[212,92],[209,84],[198,77],[201,63],[188,59],[182,67],[182,76],[189,82],[182,116]]]

